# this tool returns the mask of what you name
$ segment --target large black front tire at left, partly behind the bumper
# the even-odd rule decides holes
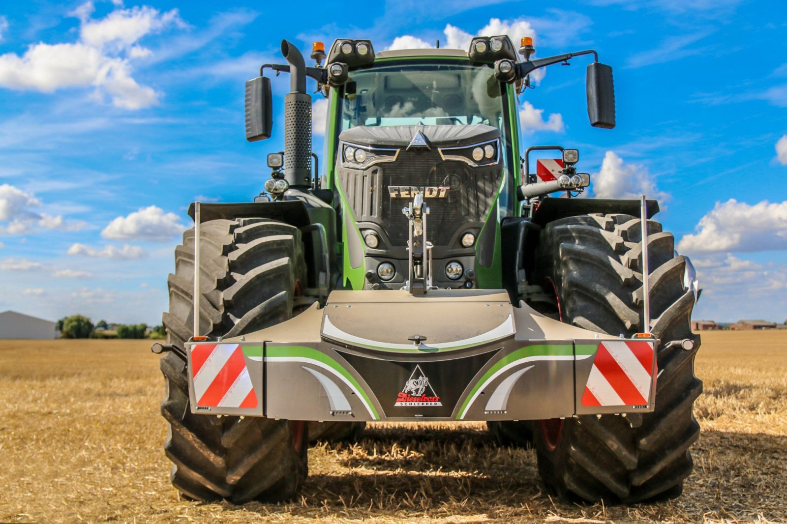
[[[289,319],[306,279],[301,232],[263,219],[201,224],[201,333],[235,337]],[[194,318],[194,230],[175,250],[169,275],[168,341],[183,347]],[[308,473],[307,424],[263,417],[194,415],[187,365],[175,352],[161,358],[169,423],[164,452],[172,484],[191,500],[277,502],[292,498]]]

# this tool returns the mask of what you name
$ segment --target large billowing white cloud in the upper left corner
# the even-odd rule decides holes
[[[44,93],[94,87],[99,98],[109,95],[116,107],[156,104],[159,94],[131,77],[131,62],[150,55],[137,43],[142,37],[184,25],[177,9],[161,13],[148,6],[118,8],[101,19],[92,18],[93,11],[93,3],[85,2],[70,13],[79,19],[77,42],[39,42],[22,55],[0,55],[0,86]]]

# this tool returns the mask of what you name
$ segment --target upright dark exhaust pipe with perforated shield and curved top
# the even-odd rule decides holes
[[[312,97],[306,93],[301,51],[282,40],[290,63],[290,93],[284,96],[284,179],[291,187],[312,185]]]

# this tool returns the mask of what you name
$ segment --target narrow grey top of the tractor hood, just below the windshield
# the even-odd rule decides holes
[[[416,125],[416,126],[358,126],[342,131],[339,138],[359,146],[407,147],[418,133],[429,146],[471,146],[500,137],[497,127],[486,124],[471,125]]]

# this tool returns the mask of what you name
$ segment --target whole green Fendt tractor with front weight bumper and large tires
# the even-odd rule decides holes
[[[310,439],[369,421],[486,421],[530,445],[564,500],[678,496],[699,434],[698,296],[656,201],[576,198],[577,149],[520,153],[530,73],[593,55],[590,124],[615,127],[593,50],[531,60],[507,36],[464,50],[339,39],[246,83],[246,138],[284,151],[253,202],[200,204],[169,275],[162,354],[172,483],[194,500],[286,500]],[[325,65],[323,65],[323,61]],[[324,171],[312,97],[327,97]],[[530,153],[553,149],[538,161]],[[520,158],[524,154],[524,158]],[[313,160],[313,162],[312,162]],[[556,196],[550,196],[556,195]]]

